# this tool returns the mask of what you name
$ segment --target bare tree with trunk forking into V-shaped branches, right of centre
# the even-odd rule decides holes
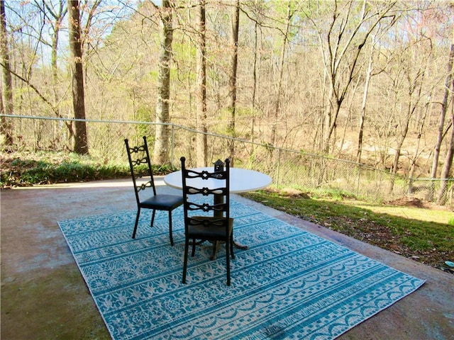
[[[342,5],[341,8],[339,4]],[[361,8],[357,8],[358,4],[358,1],[335,1],[333,16],[326,33],[321,24],[316,23],[311,16],[308,17],[319,32],[329,86],[327,102],[323,109],[321,141],[321,151],[326,154],[330,152],[331,136],[336,129],[341,106],[356,77],[362,48],[380,22],[387,20],[387,25],[382,26],[382,30],[387,30],[395,22],[395,16],[390,13],[394,8],[394,2],[375,3],[376,6],[370,6],[367,1],[362,1]]]

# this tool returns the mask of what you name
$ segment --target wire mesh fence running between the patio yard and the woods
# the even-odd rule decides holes
[[[45,118],[36,116],[3,115],[16,118],[13,135],[16,147],[26,150],[72,149],[70,129],[75,119]],[[131,145],[139,143],[143,135],[153,145],[157,123],[123,120],[84,120],[87,123],[89,151],[104,162],[127,161],[124,139]],[[196,166],[196,138],[201,132],[181,125],[167,124],[170,130],[170,162],[179,168],[179,158],[187,158],[188,166]],[[388,202],[401,198],[416,198],[454,207],[454,179],[408,179],[372,168],[364,164],[324,157],[292,149],[240,140],[207,133],[207,159],[231,157],[234,144],[233,165],[268,174],[277,188],[294,188],[302,192],[331,193],[375,202]],[[209,165],[209,164],[206,164]]]

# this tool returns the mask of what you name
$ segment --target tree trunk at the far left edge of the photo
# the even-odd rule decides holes
[[[6,33],[5,2],[0,1],[1,33],[0,33],[0,57],[1,57],[1,113],[13,114],[13,89],[11,82],[11,64],[9,62],[8,38]],[[1,149],[9,149],[13,145],[11,125],[5,117],[1,117]]]

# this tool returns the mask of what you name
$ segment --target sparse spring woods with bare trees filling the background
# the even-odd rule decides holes
[[[165,164],[175,124],[202,132],[177,138],[199,166],[209,132],[231,137],[234,162],[250,157],[235,139],[248,140],[441,179],[445,195],[453,12],[452,1],[1,1],[3,149],[114,159],[124,138],[148,135]]]

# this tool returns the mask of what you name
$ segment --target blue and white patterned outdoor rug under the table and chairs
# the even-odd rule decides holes
[[[113,339],[334,339],[414,292],[414,278],[231,201],[231,286],[225,249],[189,256],[182,284],[182,207],[80,217],[58,224]]]

